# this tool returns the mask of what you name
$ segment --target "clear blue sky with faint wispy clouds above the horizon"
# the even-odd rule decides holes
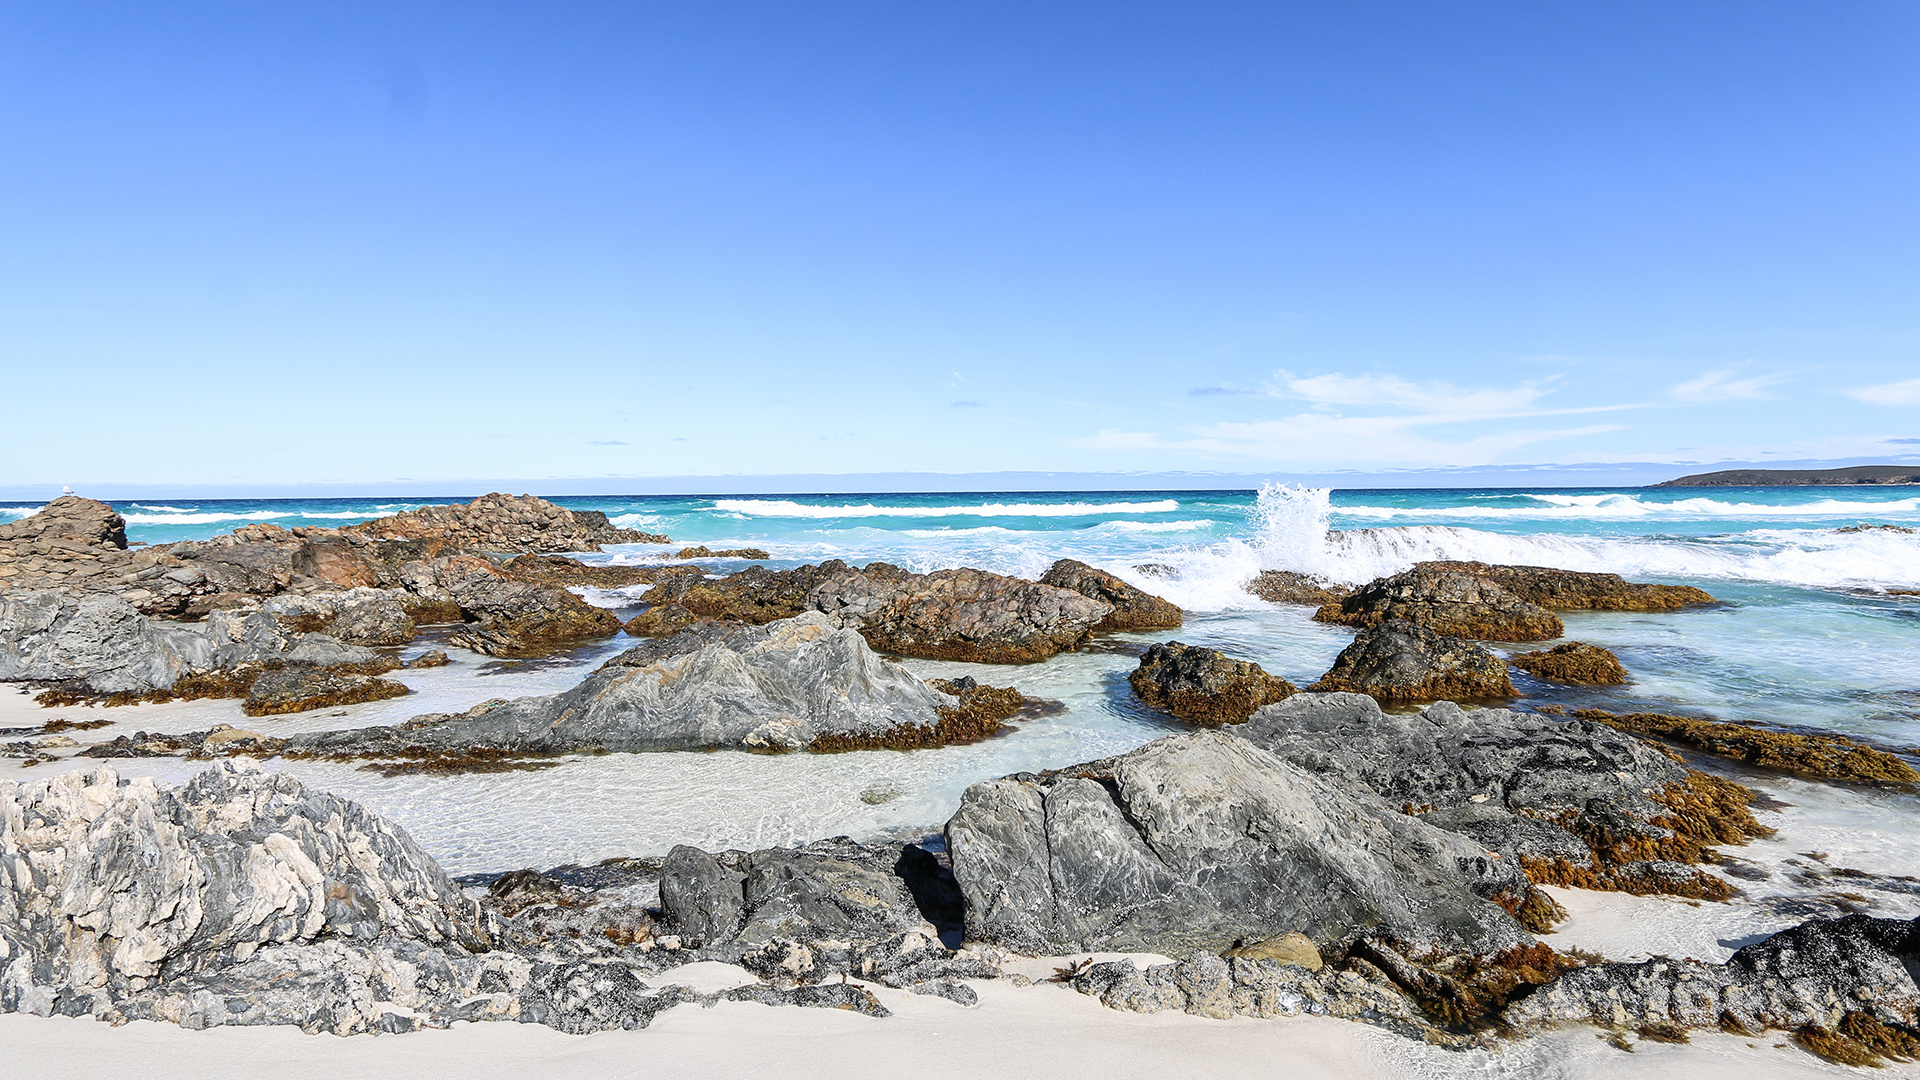
[[[1920,452],[1914,2],[6,2],[0,146],[0,484]]]

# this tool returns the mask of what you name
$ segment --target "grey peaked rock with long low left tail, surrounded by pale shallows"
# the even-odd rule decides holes
[[[820,615],[764,626],[707,623],[636,646],[549,698],[486,701],[399,728],[296,738],[321,755],[459,755],[472,749],[804,749],[829,734],[939,728],[958,701],[874,655]]]

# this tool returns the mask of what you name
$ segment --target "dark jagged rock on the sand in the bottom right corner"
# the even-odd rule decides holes
[[[1880,1065],[1889,1051],[1920,1049],[1916,970],[1920,920],[1814,919],[1741,947],[1724,965],[1657,957],[1578,969],[1511,1005],[1503,1020],[1519,1030],[1555,1022],[1749,1038],[1786,1030],[1845,1065]]]

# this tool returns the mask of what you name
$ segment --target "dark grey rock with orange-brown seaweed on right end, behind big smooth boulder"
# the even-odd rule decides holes
[[[1536,884],[1726,899],[1693,869],[1768,832],[1753,792],[1603,724],[1440,701],[1382,713],[1361,694],[1298,694],[1227,728],[1342,790],[1367,790],[1524,867]],[[1551,907],[1519,911],[1536,928]]]

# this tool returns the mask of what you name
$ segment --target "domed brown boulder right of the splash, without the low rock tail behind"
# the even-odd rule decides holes
[[[1492,642],[1542,642],[1561,636],[1559,615],[1515,596],[1498,580],[1461,567],[1478,563],[1419,563],[1380,578],[1313,613],[1319,623],[1371,628],[1388,621],[1413,623],[1436,634]]]

